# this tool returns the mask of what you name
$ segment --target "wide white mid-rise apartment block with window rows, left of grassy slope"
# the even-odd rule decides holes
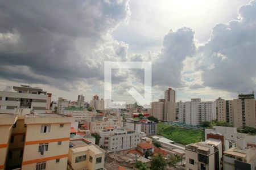
[[[100,146],[104,146],[111,151],[129,150],[137,147],[141,142],[141,137],[146,137],[143,132],[136,132],[125,128],[105,128],[104,131],[98,131],[100,134]]]

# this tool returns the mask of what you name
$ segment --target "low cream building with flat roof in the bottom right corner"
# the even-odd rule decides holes
[[[246,169],[256,168],[256,147],[241,150],[233,147],[224,152],[223,167],[225,169]]]

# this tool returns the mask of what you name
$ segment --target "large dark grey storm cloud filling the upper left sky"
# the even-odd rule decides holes
[[[126,56],[108,33],[128,17],[127,1],[0,1],[0,76],[101,80],[104,59]]]

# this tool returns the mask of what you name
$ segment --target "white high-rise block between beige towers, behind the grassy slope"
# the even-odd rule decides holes
[[[179,102],[179,122],[188,125],[199,125],[204,121],[216,120],[216,103],[214,101],[191,101]]]

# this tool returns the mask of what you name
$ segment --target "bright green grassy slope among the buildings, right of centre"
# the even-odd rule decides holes
[[[204,141],[204,131],[158,123],[158,135],[182,145]]]

